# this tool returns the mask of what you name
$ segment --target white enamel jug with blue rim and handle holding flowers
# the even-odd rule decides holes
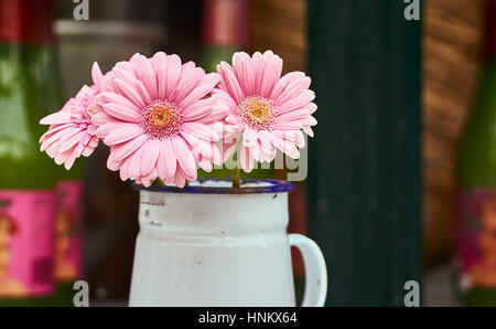
[[[295,306],[290,246],[303,255],[303,306],[323,306],[327,273],[319,246],[287,234],[283,181],[205,181],[140,189],[130,306]]]

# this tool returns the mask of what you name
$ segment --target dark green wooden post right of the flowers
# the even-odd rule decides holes
[[[421,284],[421,23],[407,6],[309,0],[309,229],[328,306],[402,306]]]

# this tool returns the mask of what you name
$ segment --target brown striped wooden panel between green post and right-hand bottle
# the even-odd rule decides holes
[[[423,12],[423,254],[451,256],[457,146],[477,82],[485,0],[427,0]]]

